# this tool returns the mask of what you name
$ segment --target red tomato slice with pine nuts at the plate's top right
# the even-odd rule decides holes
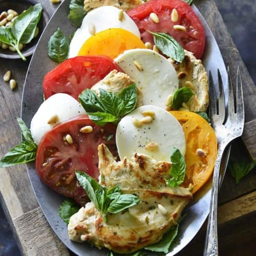
[[[178,12],[177,22],[172,22],[170,15],[173,9]],[[159,17],[159,23],[154,23],[150,14],[154,12]],[[174,37],[181,46],[193,52],[196,58],[203,54],[205,45],[204,28],[193,9],[182,0],[151,0],[132,9],[127,14],[138,26],[143,42],[154,45],[153,35],[147,32],[163,32]],[[175,30],[174,25],[186,27],[186,31]]]

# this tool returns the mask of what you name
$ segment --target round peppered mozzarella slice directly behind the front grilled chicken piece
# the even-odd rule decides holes
[[[154,115],[153,121],[140,126],[135,120],[143,121],[144,111]],[[186,150],[185,136],[178,120],[166,110],[153,105],[140,106],[121,119],[116,131],[116,145],[120,159],[130,159],[134,153],[138,153],[169,162],[172,147],[179,148],[183,155]]]

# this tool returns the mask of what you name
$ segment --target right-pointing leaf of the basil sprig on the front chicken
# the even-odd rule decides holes
[[[122,194],[118,195],[108,207],[108,212],[117,214],[118,212],[132,207],[140,202],[139,198],[134,195]]]

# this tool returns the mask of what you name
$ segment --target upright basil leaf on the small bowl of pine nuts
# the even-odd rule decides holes
[[[36,4],[17,16],[12,26],[12,33],[17,39],[17,45],[19,42],[28,44],[34,38],[41,14],[42,6],[41,4]]]

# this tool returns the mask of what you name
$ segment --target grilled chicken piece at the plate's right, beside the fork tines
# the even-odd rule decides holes
[[[197,59],[189,51],[184,50],[184,52],[185,58],[183,62],[170,60],[179,78],[179,88],[186,86],[195,93],[187,102],[190,111],[205,112],[209,104],[207,73],[201,59]]]

